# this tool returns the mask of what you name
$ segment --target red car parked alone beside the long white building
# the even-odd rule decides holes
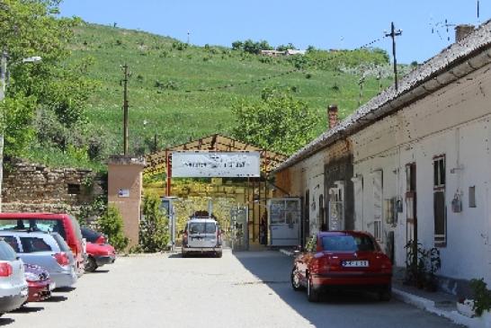
[[[291,271],[291,287],[307,288],[308,301],[333,289],[365,289],[392,294],[392,263],[368,233],[329,231],[312,236],[306,252],[299,253]]]

